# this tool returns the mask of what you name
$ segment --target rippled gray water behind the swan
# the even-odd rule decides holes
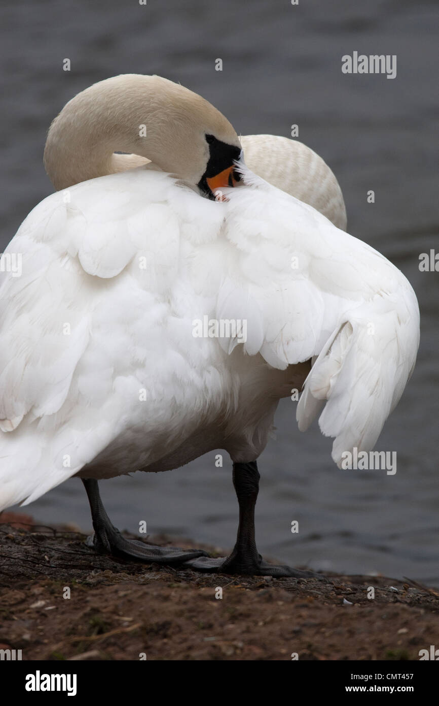
[[[285,562],[381,572],[439,584],[438,282],[419,253],[439,250],[435,0],[3,0],[0,77],[0,234],[4,245],[52,192],[42,152],[47,128],[77,92],[118,73],[158,73],[210,100],[242,134],[299,139],[330,164],[348,230],[390,258],[421,307],[421,348],[378,450],[397,473],[340,471],[330,440],[295,423],[284,400],[276,441],[259,460],[259,550]],[[397,77],[345,75],[341,57],[396,54]],[[71,71],[62,70],[63,59]],[[223,71],[215,71],[215,59]],[[366,201],[373,189],[376,203]],[[230,463],[214,454],[163,474],[101,483],[113,522],[233,546],[237,506]],[[42,522],[91,526],[72,479],[28,508]],[[299,534],[290,532],[299,520]]]

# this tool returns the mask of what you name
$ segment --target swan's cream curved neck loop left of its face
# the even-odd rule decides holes
[[[159,76],[116,76],[70,100],[51,124],[44,149],[44,167],[55,188],[66,189],[151,160],[163,163],[163,150],[154,135],[147,142],[141,139],[151,123],[154,97],[167,88],[163,83],[171,82]]]

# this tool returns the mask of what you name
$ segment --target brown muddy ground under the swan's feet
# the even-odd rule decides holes
[[[439,644],[439,591],[411,580],[200,574],[98,556],[80,532],[8,520],[0,649],[23,660],[418,660]]]

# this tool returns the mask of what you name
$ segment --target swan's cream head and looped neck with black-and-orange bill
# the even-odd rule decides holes
[[[44,164],[56,189],[65,189],[126,169],[114,152],[138,155],[209,198],[239,181],[242,147],[228,119],[161,76],[113,76],[78,93],[51,124]]]

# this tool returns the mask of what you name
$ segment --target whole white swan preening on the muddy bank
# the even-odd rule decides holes
[[[265,154],[273,181],[263,143],[290,148],[254,137],[250,161],[262,170]],[[66,105],[44,150],[58,191],[5,251],[22,256],[20,276],[1,273],[0,510],[76,476],[97,551],[310,575],[256,548],[257,458],[278,402],[303,388],[299,429],[319,415],[339,467],[346,451],[371,450],[414,369],[419,308],[400,270],[288,193],[300,186],[278,162],[284,189],[249,169],[220,112],[157,76],[113,77]],[[336,201],[326,207],[343,225]],[[113,527],[99,479],[217,448],[239,505],[230,556]]]

